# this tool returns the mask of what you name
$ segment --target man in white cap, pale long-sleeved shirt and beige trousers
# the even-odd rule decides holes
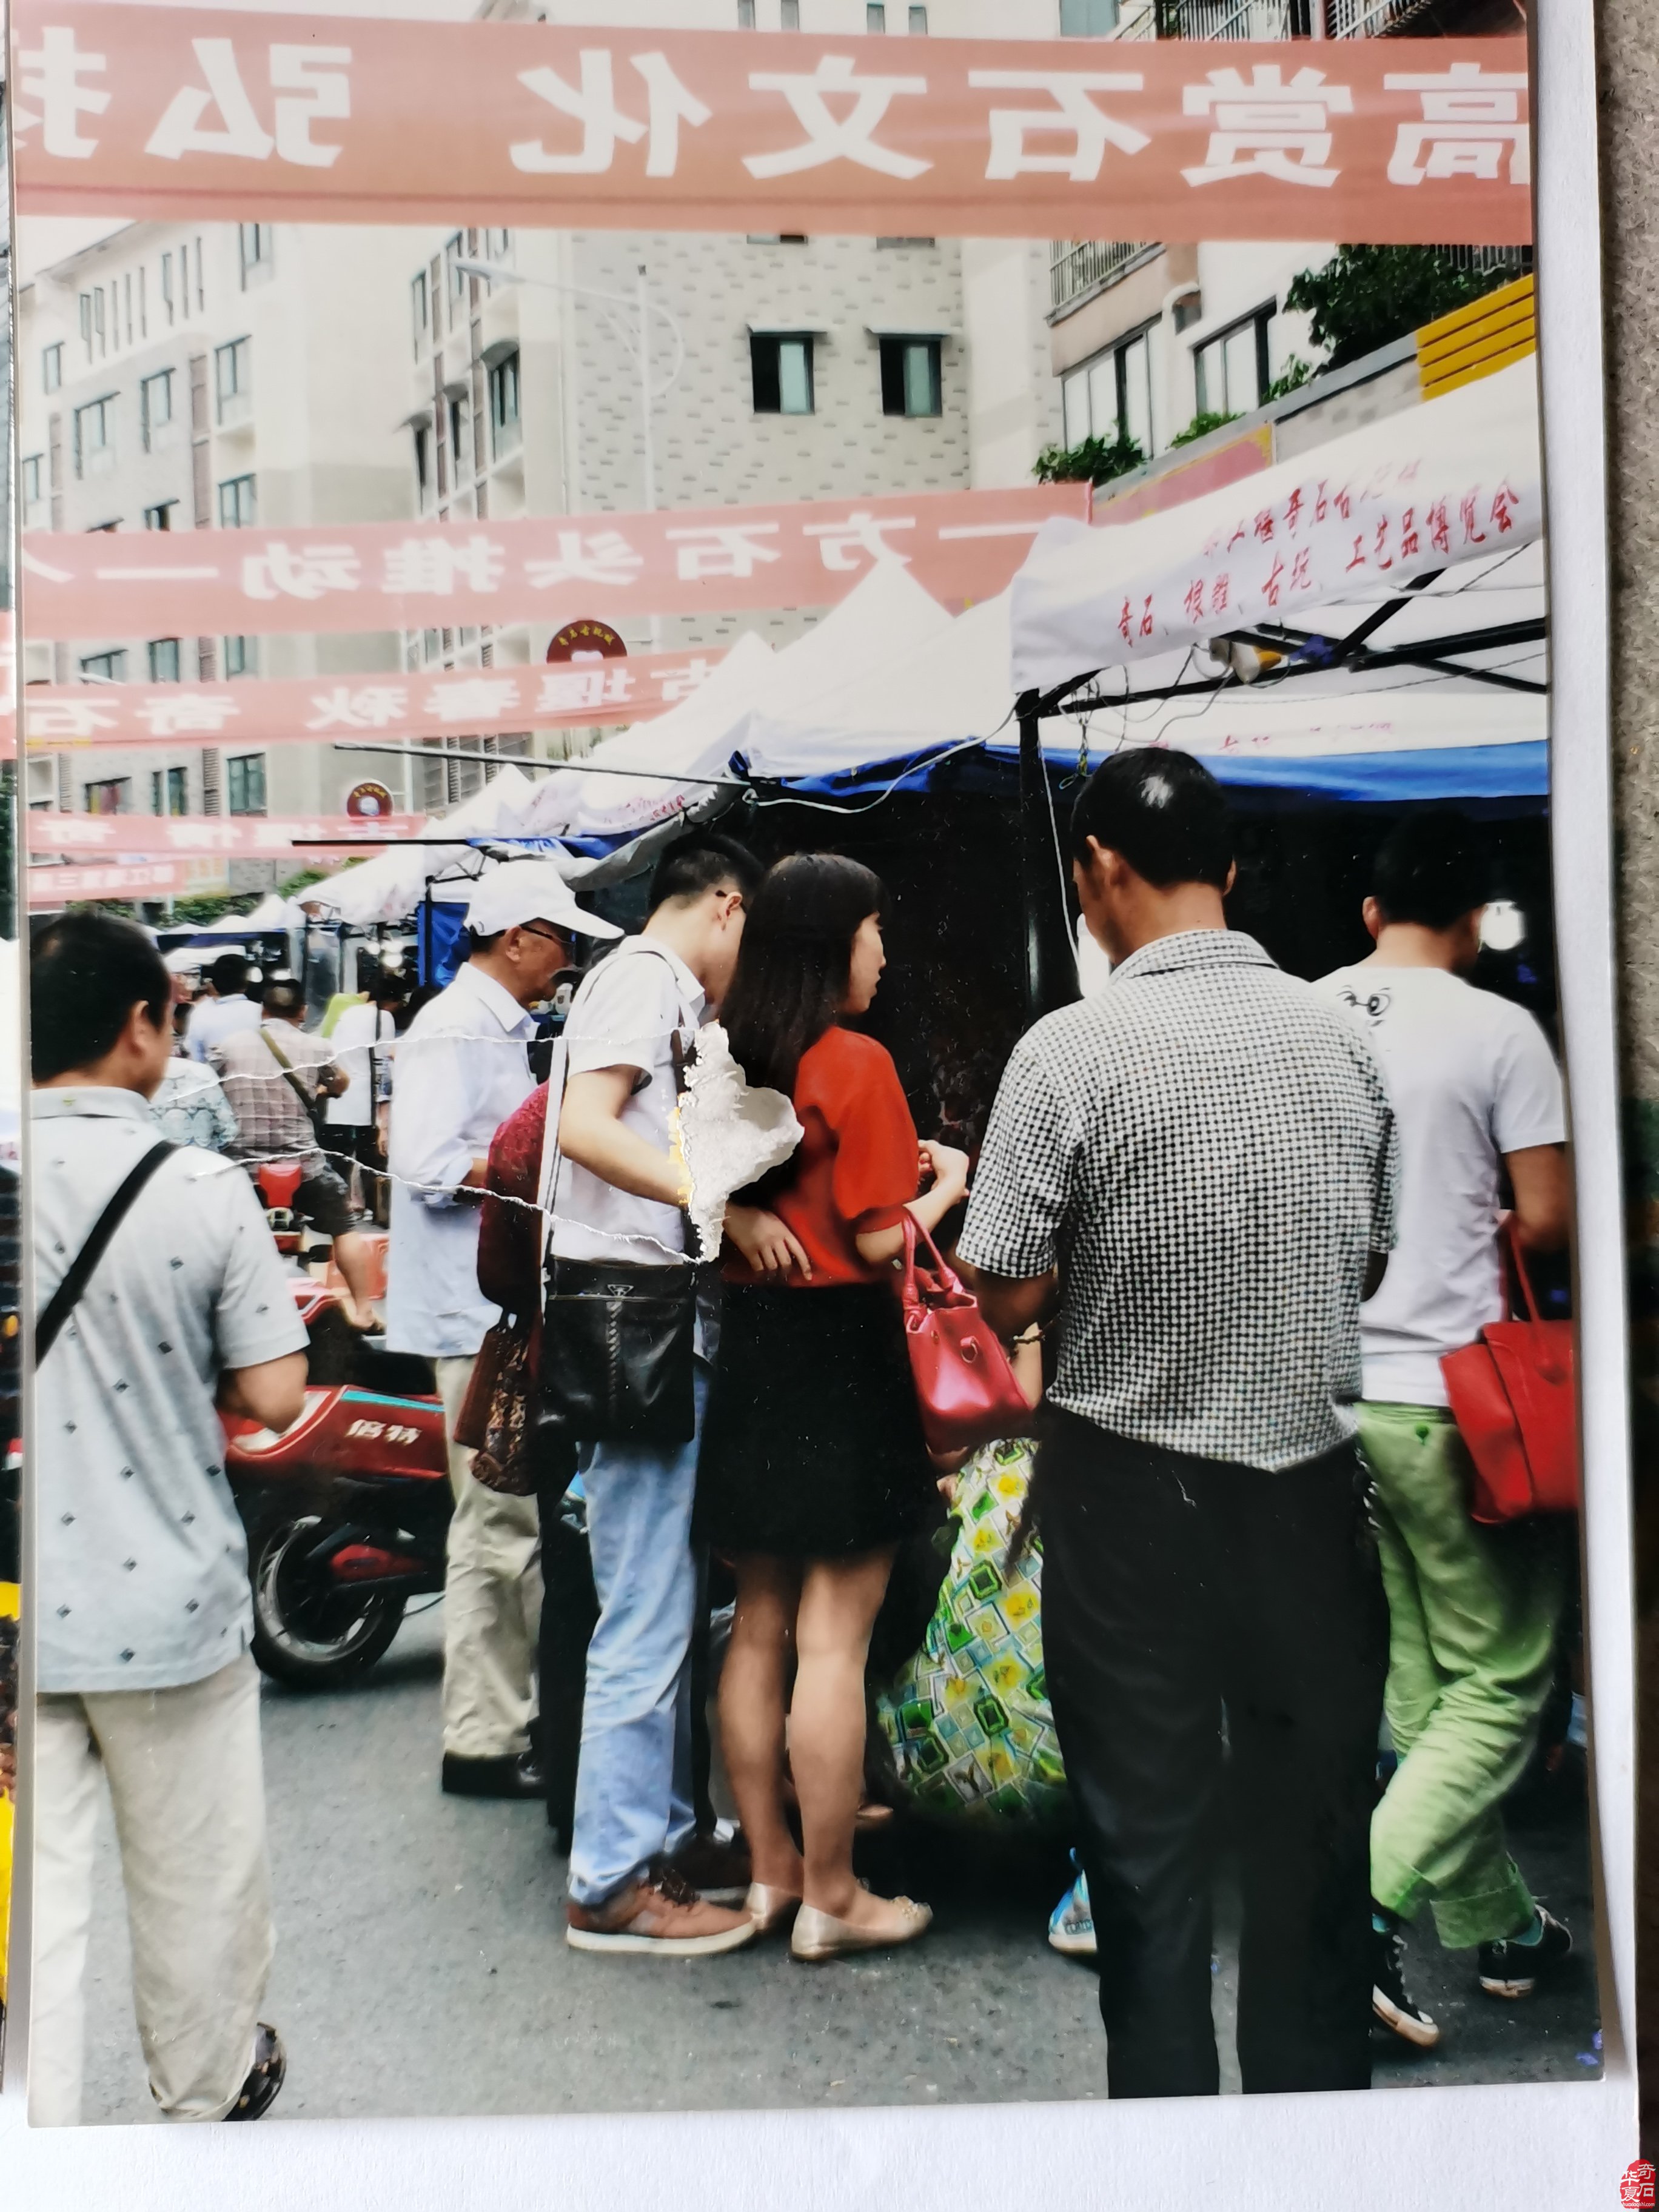
[[[573,940],[619,938],[584,914],[551,860],[509,860],[467,907],[471,956],[409,1024],[392,1106],[387,1345],[438,1367],[449,1431],[442,1785],[458,1796],[542,1796],[531,1747],[542,1608],[535,1498],[473,1480],[453,1440],[484,1332],[498,1310],[478,1290],[478,1199],[498,1126],[535,1088],[529,1009],[573,967]]]

